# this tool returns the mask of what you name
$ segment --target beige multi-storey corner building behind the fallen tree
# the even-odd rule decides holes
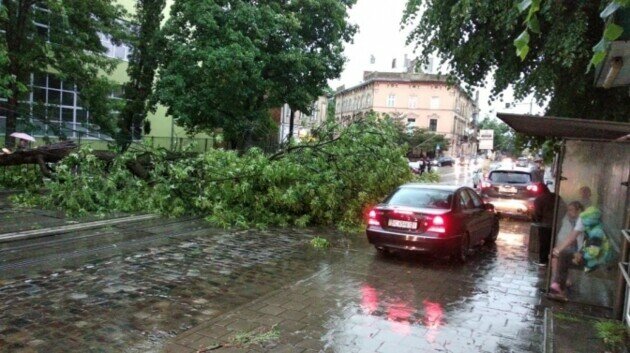
[[[349,121],[374,111],[400,119],[412,128],[444,135],[451,147],[446,154],[476,152],[476,103],[446,78],[424,73],[365,72],[363,83],[341,87],[335,94],[335,117]]]

